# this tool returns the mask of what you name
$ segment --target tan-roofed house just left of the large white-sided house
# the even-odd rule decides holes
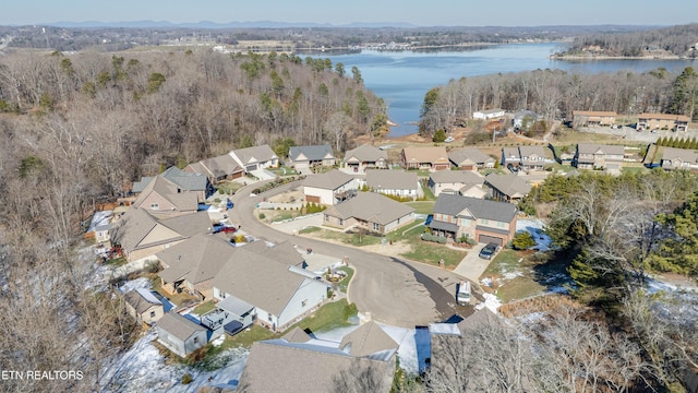
[[[156,254],[165,291],[186,291],[201,300],[213,299],[213,282],[237,248],[209,234],[200,234]],[[297,252],[298,253],[298,252]]]

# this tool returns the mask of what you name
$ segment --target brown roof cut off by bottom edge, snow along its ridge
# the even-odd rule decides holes
[[[377,393],[390,391],[395,365],[370,358],[357,358],[337,348],[269,340],[252,344],[240,377],[238,390],[244,392],[332,392],[335,379],[345,372],[361,372],[371,367],[385,380]],[[269,372],[274,370],[274,372]],[[359,390],[357,390],[359,391]]]

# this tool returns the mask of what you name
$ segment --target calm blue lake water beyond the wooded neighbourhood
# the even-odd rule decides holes
[[[351,55],[312,55],[328,58],[333,64],[342,62],[350,74],[353,66],[361,71],[364,84],[388,105],[388,117],[398,123],[390,136],[417,132],[416,122],[424,94],[452,79],[493,73],[520,72],[537,69],[559,69],[579,73],[645,72],[663,67],[681,71],[697,67],[690,60],[599,60],[559,61],[549,56],[562,49],[561,44],[509,44],[479,47],[467,51],[372,51]]]

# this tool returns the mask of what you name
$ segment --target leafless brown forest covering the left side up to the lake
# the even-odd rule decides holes
[[[344,148],[381,127],[384,110],[358,69],[326,60],[204,51],[0,58],[0,364],[85,376],[74,389],[14,380],[2,390],[98,390],[101,359],[132,337],[122,305],[94,287],[94,254],[74,248],[95,202],[141,175],[233,147]]]

